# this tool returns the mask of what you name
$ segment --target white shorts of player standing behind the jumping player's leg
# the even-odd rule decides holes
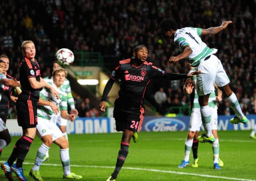
[[[218,113],[216,107],[211,108],[210,115],[211,129],[216,130],[218,128]],[[202,125],[202,117],[199,108],[192,109],[189,122],[188,131],[200,131]]]

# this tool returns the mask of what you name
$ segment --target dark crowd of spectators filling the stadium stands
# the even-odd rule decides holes
[[[51,62],[58,48],[101,52],[105,67],[113,69],[118,61],[130,58],[135,45],[148,47],[148,61],[166,72],[188,72],[186,61],[167,63],[179,51],[162,39],[159,22],[174,18],[178,27],[209,28],[223,20],[232,20],[225,31],[202,36],[209,47],[218,49],[222,61],[245,114],[254,113],[256,96],[256,1],[242,0],[1,0],[0,53],[10,58],[9,74],[18,78],[23,40],[35,42],[42,76],[51,72]],[[152,81],[146,99],[160,114],[176,112],[170,106],[187,106],[183,81]],[[75,91],[75,90],[74,90]],[[159,93],[165,99],[158,102]],[[163,94],[163,93],[162,93]],[[164,97],[164,96],[162,96]],[[83,97],[85,99],[85,97]],[[81,115],[86,101],[80,102]],[[219,114],[233,114],[226,99],[219,103]],[[13,108],[15,109],[15,108]],[[95,114],[94,112],[91,114]],[[182,114],[187,114],[182,112]]]

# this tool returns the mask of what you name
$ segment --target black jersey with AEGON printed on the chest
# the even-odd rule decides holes
[[[148,83],[152,78],[162,77],[165,71],[147,61],[139,67],[131,63],[131,59],[119,61],[118,67],[112,71],[110,77],[120,82],[119,99],[128,108],[137,109],[143,105],[143,98]]]

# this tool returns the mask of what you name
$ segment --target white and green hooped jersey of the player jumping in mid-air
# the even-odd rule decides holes
[[[174,35],[174,44],[179,47],[180,51],[183,51],[186,45],[191,47],[193,52],[188,57],[188,61],[192,67],[197,67],[202,59],[218,51],[215,48],[209,48],[202,41],[201,33],[202,28],[185,27],[178,29]]]

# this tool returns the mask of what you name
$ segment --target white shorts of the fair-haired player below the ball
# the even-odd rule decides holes
[[[60,131],[60,128],[50,120],[37,117],[37,136],[41,139],[46,135],[51,135],[54,141],[63,136],[63,133]]]

